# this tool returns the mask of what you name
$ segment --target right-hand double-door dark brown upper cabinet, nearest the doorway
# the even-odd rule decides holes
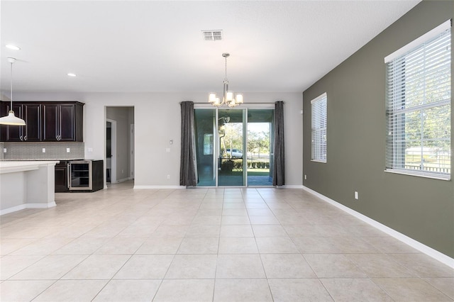
[[[43,103],[43,141],[83,142],[83,106],[79,102]]]

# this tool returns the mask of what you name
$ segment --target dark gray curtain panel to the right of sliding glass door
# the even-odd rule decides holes
[[[285,184],[285,144],[284,144],[284,102],[275,104],[275,159],[273,162],[272,185]]]

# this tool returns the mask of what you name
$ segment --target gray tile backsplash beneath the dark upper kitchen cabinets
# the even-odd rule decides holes
[[[79,160],[85,157],[84,142],[0,142],[0,147],[0,160]]]

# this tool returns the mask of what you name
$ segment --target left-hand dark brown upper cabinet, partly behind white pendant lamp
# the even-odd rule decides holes
[[[9,112],[9,103],[2,107],[1,115]],[[41,104],[13,104],[14,115],[26,121],[26,125],[2,125],[0,130],[1,141],[8,142],[39,142],[41,140]]]

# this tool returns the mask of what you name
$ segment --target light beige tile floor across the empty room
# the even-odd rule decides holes
[[[301,189],[56,194],[1,216],[1,301],[453,301],[454,270]]]

